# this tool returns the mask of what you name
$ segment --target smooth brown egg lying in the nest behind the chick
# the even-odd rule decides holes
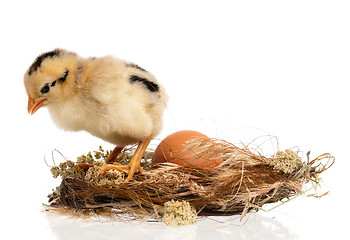
[[[190,169],[209,170],[222,163],[221,155],[210,151],[212,143],[208,136],[200,132],[175,132],[158,145],[153,154],[152,166],[169,162]]]

